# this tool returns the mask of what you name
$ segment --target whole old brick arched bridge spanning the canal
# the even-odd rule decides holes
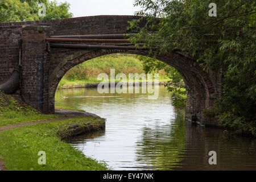
[[[19,69],[19,88],[24,101],[42,113],[55,112],[55,92],[65,73],[86,60],[112,53],[148,55],[146,50],[108,48],[60,48],[50,46],[49,36],[126,34],[135,16],[88,16],[0,24],[0,84]],[[92,43],[90,43],[92,44]],[[120,43],[112,43],[119,45]],[[97,43],[99,45],[99,43]],[[100,43],[105,45],[105,43]],[[186,117],[197,115],[221,96],[219,71],[203,71],[192,59],[176,52],[158,59],[176,68],[187,87]],[[19,66],[20,65],[20,66]]]

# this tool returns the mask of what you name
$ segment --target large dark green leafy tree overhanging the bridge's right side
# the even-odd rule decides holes
[[[144,47],[158,47],[159,53],[177,51],[197,60],[205,71],[222,69],[224,93],[216,115],[222,126],[240,130],[244,123],[249,127],[242,130],[254,133],[255,1],[216,0],[217,17],[209,16],[210,3],[210,0],[135,0],[135,5],[142,7],[137,15],[146,18],[130,23],[130,28],[138,31],[130,40],[137,46],[141,46],[137,42],[144,40]],[[139,28],[141,20],[147,23]]]

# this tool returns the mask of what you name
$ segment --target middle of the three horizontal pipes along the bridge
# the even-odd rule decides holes
[[[48,42],[103,42],[103,43],[130,43],[128,39],[67,39],[46,38]]]

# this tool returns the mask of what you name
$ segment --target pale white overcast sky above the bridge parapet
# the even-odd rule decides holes
[[[134,0],[57,0],[69,2],[74,17],[94,15],[134,15]]]

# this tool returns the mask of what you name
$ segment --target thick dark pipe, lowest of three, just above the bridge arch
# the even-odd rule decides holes
[[[150,48],[137,48],[135,46],[102,46],[87,44],[51,44],[51,47],[73,48],[73,49],[119,49],[119,50],[148,50]]]

